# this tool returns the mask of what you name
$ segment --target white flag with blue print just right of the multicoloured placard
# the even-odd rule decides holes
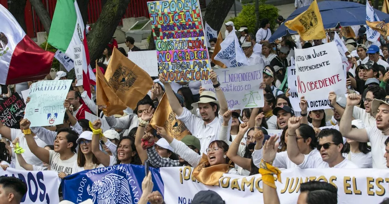
[[[233,28],[235,30],[235,27]],[[220,44],[221,49],[214,57],[227,67],[238,67],[249,65],[247,58],[240,47],[237,35],[228,35]]]

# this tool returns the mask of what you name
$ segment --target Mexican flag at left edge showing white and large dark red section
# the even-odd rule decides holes
[[[44,79],[50,73],[54,53],[44,51],[0,4],[0,84]]]

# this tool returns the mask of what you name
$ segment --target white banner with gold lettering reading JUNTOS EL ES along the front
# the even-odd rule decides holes
[[[164,184],[164,201],[169,204],[191,203],[200,190],[217,192],[226,204],[263,204],[263,182],[261,174],[238,176],[224,174],[219,186],[198,183],[192,176],[193,168],[164,167],[159,169]],[[338,188],[338,204],[380,203],[389,196],[387,185],[389,171],[381,169],[285,169],[281,181],[276,181],[277,192],[282,204],[296,204],[300,194],[300,183],[310,180],[329,182]],[[179,191],[177,191],[179,189]]]

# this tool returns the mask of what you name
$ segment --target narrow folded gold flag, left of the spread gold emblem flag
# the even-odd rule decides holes
[[[116,96],[96,62],[96,103],[107,106],[107,115],[123,114],[127,106]]]

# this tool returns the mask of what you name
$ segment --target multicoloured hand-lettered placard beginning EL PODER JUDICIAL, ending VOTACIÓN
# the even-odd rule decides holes
[[[198,0],[147,2],[166,82],[208,80],[211,68]]]

